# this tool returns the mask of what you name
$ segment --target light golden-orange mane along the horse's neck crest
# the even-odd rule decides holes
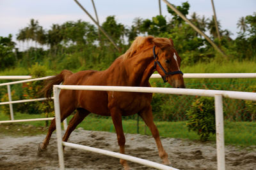
[[[120,57],[122,57],[124,60],[129,59],[134,55],[134,53],[140,52],[143,48],[150,45],[156,45],[160,48],[164,48],[165,46],[173,46],[173,43],[172,40],[168,38],[154,38],[154,36],[138,36],[132,42],[130,48]]]

